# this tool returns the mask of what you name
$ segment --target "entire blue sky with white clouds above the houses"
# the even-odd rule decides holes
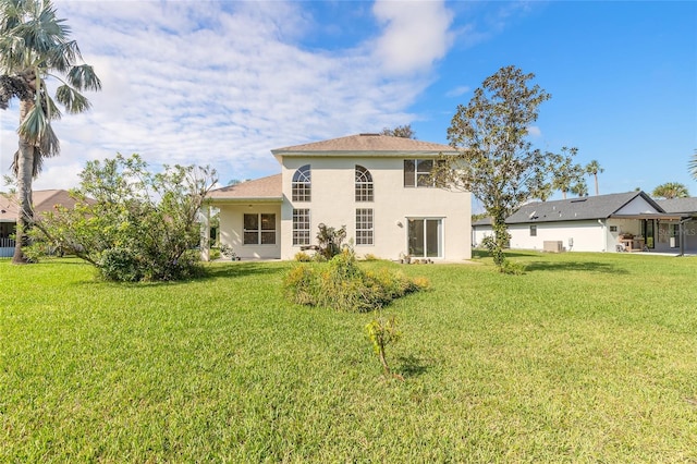
[[[500,68],[552,95],[533,142],[604,168],[601,193],[681,182],[697,148],[696,2],[54,1],[102,80],[54,125],[35,188],[140,154],[220,182],[280,172],[272,148],[411,124],[448,143],[456,106]],[[0,111],[0,171],[17,106]],[[589,182],[591,194],[592,182]]]

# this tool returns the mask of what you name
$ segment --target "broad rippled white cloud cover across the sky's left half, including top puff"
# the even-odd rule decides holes
[[[313,27],[305,7],[59,0],[59,17],[103,87],[86,94],[89,112],[54,123],[61,156],[48,160],[36,185],[75,185],[75,167],[117,152],[139,152],[152,166],[211,164],[223,182],[256,178],[280,170],[272,148],[414,120],[407,108],[429,83],[424,72],[450,44],[443,4],[409,3],[406,13],[376,4],[389,23],[377,51],[369,41],[305,49],[298,41]],[[2,114],[3,173],[16,117]]]

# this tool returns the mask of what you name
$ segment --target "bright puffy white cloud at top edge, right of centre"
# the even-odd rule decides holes
[[[452,45],[453,15],[441,1],[377,0],[372,11],[384,25],[376,51],[390,73],[430,71]]]

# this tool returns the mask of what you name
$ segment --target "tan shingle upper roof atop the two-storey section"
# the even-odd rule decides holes
[[[356,134],[329,141],[295,145],[271,150],[273,156],[437,156],[455,154],[450,145],[393,137],[381,134]]]

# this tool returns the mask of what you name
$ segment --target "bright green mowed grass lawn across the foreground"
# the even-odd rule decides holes
[[[291,262],[114,284],[0,260],[0,462],[697,462],[697,258],[389,266],[376,314],[285,302]]]

